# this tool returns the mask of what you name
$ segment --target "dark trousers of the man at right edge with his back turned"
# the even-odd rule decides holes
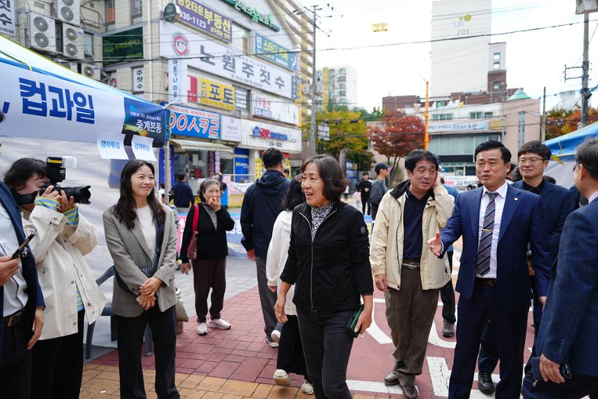
[[[564,384],[540,380],[533,386],[534,381],[533,373],[528,371],[521,392],[524,399],[579,399],[588,395],[590,399],[598,398],[598,377],[573,375]]]

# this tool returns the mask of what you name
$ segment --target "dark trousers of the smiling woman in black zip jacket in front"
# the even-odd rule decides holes
[[[347,331],[353,311],[324,313],[297,308],[299,332],[315,399],[351,399],[347,364],[353,336]]]

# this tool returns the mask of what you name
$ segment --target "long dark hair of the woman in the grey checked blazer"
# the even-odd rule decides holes
[[[133,159],[125,165],[123,171],[120,172],[120,198],[116,205],[113,205],[111,212],[120,223],[127,225],[129,230],[133,230],[135,227],[135,221],[137,219],[137,212],[135,212],[135,198],[133,198],[133,189],[131,188],[131,177],[139,170],[142,166],[148,166],[151,169],[152,174],[155,174],[155,169],[149,162],[141,161],[140,159]],[[155,221],[160,224],[164,224],[166,220],[166,213],[162,205],[158,203],[155,195],[155,189],[152,190],[148,195],[148,205],[152,211],[152,217]]]

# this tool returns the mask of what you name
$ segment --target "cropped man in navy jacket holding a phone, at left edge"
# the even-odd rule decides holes
[[[10,260],[24,240],[19,207],[0,182],[0,398],[31,396],[31,347],[43,325],[45,304],[33,254]]]

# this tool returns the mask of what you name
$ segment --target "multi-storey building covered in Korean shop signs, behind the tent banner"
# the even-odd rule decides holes
[[[272,146],[301,152],[313,38],[296,1],[12,3],[3,35],[171,109],[171,170],[192,186],[216,173],[255,180]]]

